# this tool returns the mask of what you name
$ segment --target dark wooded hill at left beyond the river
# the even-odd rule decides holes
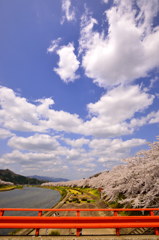
[[[24,184],[36,185],[44,182],[36,178],[30,178],[30,177],[25,177],[25,176],[16,174],[9,169],[0,169],[0,179],[6,182],[12,182],[14,184],[20,184],[20,185],[24,185]]]

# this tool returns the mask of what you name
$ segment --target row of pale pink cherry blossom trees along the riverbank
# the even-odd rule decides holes
[[[118,201],[134,208],[159,207],[159,141],[149,147],[123,160],[123,165],[109,172],[88,179],[43,185],[102,188],[102,198],[109,202]]]

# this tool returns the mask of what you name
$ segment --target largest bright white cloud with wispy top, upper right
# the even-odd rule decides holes
[[[151,24],[158,1],[137,1],[138,14],[131,1],[117,2],[106,12],[107,36],[93,31],[95,19],[82,18],[82,66],[87,77],[101,87],[130,83],[159,66],[159,28]]]

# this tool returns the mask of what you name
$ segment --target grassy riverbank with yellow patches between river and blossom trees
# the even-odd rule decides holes
[[[53,189],[55,190],[55,189]],[[56,189],[57,190],[57,189]],[[100,199],[100,193],[96,189],[90,188],[70,188],[66,187],[66,196],[57,203],[53,208],[55,209],[82,209],[82,208],[106,208],[103,200]],[[57,211],[59,216],[73,216],[75,213],[70,211]],[[107,213],[109,214],[109,213]],[[52,216],[53,212],[44,213],[45,216]],[[81,212],[81,216],[105,216],[105,212]],[[76,229],[40,229],[40,236],[48,235],[56,237],[55,235],[68,236],[76,235]],[[83,229],[82,234],[84,235],[100,235],[100,234],[115,234],[114,229]],[[25,229],[16,233],[16,235],[29,235],[34,236],[35,230]]]

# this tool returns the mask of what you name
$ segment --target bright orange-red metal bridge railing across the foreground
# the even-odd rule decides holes
[[[6,211],[37,212],[38,216],[5,216]],[[112,212],[112,216],[81,216],[81,212]],[[120,216],[120,212],[148,212],[149,216]],[[0,228],[36,229],[35,235],[44,228],[74,228],[76,236],[80,236],[83,228],[115,228],[116,235],[120,235],[120,228],[154,228],[159,235],[159,216],[155,212],[158,208],[149,209],[25,209],[0,208]],[[76,216],[45,216],[46,212],[75,212]]]

